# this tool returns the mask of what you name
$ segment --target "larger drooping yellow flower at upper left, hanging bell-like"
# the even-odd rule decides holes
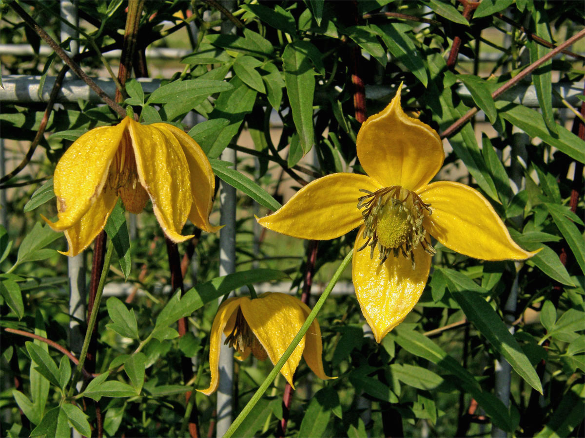
[[[87,248],[104,229],[119,197],[126,210],[140,213],[152,200],[154,215],[173,242],[187,221],[204,231],[209,224],[215,179],[201,147],[168,123],[143,125],[126,117],[116,126],[94,128],[81,135],[57,163],[53,178],[66,255]]]

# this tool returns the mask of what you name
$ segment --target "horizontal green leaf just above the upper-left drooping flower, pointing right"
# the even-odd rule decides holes
[[[225,81],[205,81],[189,79],[188,81],[174,81],[154,90],[147,103],[168,103],[178,100],[192,100],[201,96],[211,96],[214,93],[230,90],[233,85]]]

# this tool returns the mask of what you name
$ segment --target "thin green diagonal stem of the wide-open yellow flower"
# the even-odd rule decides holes
[[[339,277],[341,276],[347,265],[349,265],[349,262],[352,259],[352,255],[353,249],[349,253],[347,253],[345,259],[343,259],[343,262],[341,262],[341,265],[339,265],[338,269],[335,271],[335,274],[333,274],[331,281],[329,281],[329,284],[323,291],[323,294],[321,295],[321,297],[319,297],[319,300],[315,304],[315,307],[307,317],[307,321],[305,321],[305,324],[302,325],[301,329],[297,333],[297,336],[295,336],[294,339],[292,339],[292,342],[288,346],[287,350],[284,352],[283,357],[281,357],[280,360],[278,360],[278,362],[276,363],[276,365],[274,365],[274,368],[272,369],[272,371],[270,371],[270,374],[266,377],[266,379],[264,379],[264,381],[260,385],[260,388],[258,388],[258,390],[256,391],[256,394],[252,396],[248,404],[244,406],[242,412],[240,412],[240,415],[238,415],[238,418],[236,418],[232,425],[229,426],[229,429],[225,433],[225,435],[223,435],[223,438],[230,438],[233,435],[233,433],[236,431],[236,429],[238,429],[240,424],[242,424],[246,416],[250,413],[250,411],[252,411],[256,403],[260,400],[260,397],[262,397],[264,392],[266,392],[274,378],[276,378],[278,373],[280,373],[280,369],[288,360],[288,357],[290,357],[293,350],[297,347],[298,343],[301,342],[302,337],[305,336],[305,333],[307,333],[309,327],[315,320],[317,314],[325,304],[325,300],[327,299],[327,297],[329,297],[329,294],[331,294],[333,287],[338,282]]]

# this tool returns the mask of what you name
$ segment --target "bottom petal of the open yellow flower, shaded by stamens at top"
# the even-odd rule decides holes
[[[429,276],[431,256],[419,245],[414,250],[415,269],[402,255],[390,255],[380,265],[377,249],[373,259],[370,259],[370,248],[357,251],[363,245],[362,232],[363,227],[354,246],[353,287],[374,338],[380,342],[417,304]]]

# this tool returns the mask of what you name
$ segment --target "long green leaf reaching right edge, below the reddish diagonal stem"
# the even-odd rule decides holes
[[[558,126],[556,133],[551,134],[542,114],[523,105],[498,101],[495,103],[498,113],[511,124],[517,126],[531,137],[539,137],[543,142],[556,147],[559,151],[583,163],[585,148],[583,140],[564,127]]]

